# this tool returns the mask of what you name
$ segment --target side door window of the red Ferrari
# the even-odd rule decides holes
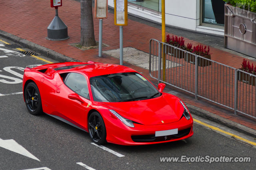
[[[90,100],[87,81],[82,74],[68,73],[64,83],[78,95]]]

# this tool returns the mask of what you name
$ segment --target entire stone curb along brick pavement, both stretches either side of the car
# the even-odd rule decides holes
[[[18,44],[20,44],[20,45],[22,45],[26,48],[32,49],[33,51],[39,52],[44,56],[47,56],[49,58],[58,60],[60,62],[79,61],[79,60],[73,59],[71,57],[68,57],[66,55],[57,53],[56,51],[52,51],[51,49],[48,49],[46,47],[42,47],[41,45],[38,45],[36,43],[33,43],[33,42],[28,41],[28,40],[19,38],[18,36],[14,36],[14,35],[12,35],[8,32],[4,32],[2,30],[0,30],[0,36],[6,38],[8,40],[11,40],[15,43],[18,43]],[[213,113],[210,113],[208,111],[205,111],[203,109],[200,109],[198,107],[190,105],[188,103],[186,103],[186,106],[188,107],[190,113],[192,113],[194,115],[206,118],[210,121],[213,121],[213,122],[219,123],[221,125],[224,125],[226,127],[232,128],[234,130],[237,130],[238,132],[242,132],[242,133],[247,134],[249,136],[252,136],[252,137],[256,136],[256,130],[248,128],[244,125],[240,125],[239,123],[235,123],[233,121],[230,121],[228,119],[225,119],[225,118],[220,117],[218,115],[215,115]]]

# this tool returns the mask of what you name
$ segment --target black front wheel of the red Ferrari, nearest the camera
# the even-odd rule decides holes
[[[90,114],[88,118],[88,131],[94,143],[106,143],[106,127],[100,113],[92,112]]]

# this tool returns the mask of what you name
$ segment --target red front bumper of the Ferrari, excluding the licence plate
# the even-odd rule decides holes
[[[134,128],[127,127],[121,121],[111,117],[104,120],[106,125],[106,140],[121,145],[157,144],[182,140],[191,137],[193,132],[193,119],[182,117],[177,122],[163,125],[141,125],[134,123]],[[178,128],[178,134],[155,137],[155,132]]]

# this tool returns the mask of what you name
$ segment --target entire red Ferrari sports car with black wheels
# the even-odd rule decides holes
[[[176,96],[137,71],[114,64],[66,62],[26,68],[23,95],[32,115],[46,113],[89,132],[96,144],[156,144],[193,135]]]

